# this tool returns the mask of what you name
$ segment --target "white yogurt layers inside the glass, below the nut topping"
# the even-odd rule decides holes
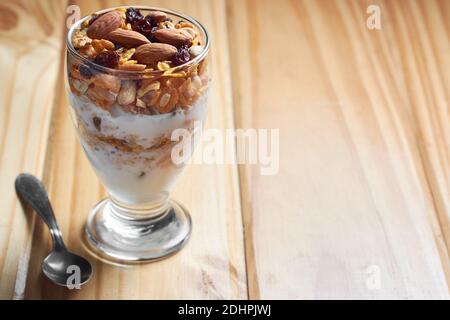
[[[132,139],[133,143],[148,149],[160,141],[161,137],[170,139],[174,130],[186,128],[193,121],[204,121],[207,115],[207,96],[208,92],[205,92],[187,110],[162,115],[130,114],[117,105],[109,113],[89,99],[72,93],[69,93],[69,103],[73,110],[72,116],[87,133],[126,141]],[[94,125],[94,117],[101,120],[100,132]],[[138,153],[126,152],[109,143],[92,143],[89,134],[83,133],[83,130],[78,132],[87,157],[114,199],[136,206],[168,198],[182,171],[170,158],[173,144]]]

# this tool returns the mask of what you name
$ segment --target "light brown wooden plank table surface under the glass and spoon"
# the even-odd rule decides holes
[[[76,1],[82,14],[133,1]],[[48,187],[67,244],[105,196],[68,115],[68,1],[0,4],[0,298],[449,298],[450,1],[139,1],[213,39],[209,128],[279,128],[280,170],[192,165],[174,198],[179,254],[94,261],[82,290],[49,283],[49,235],[13,182]],[[366,26],[370,4],[381,30]],[[234,146],[228,146],[231,151]]]

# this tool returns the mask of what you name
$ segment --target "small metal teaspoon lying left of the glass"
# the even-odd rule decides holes
[[[50,229],[53,248],[42,263],[44,274],[54,283],[65,287],[86,283],[92,275],[92,266],[83,257],[67,250],[42,183],[31,174],[22,173],[16,178],[15,185],[19,196],[33,207]]]

